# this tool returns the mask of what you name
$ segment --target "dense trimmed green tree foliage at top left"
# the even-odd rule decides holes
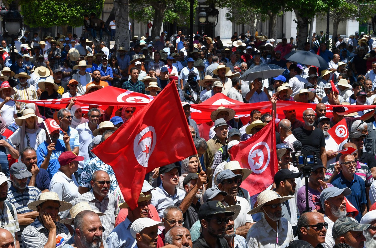
[[[83,25],[83,15],[96,13],[100,16],[104,0],[20,0],[21,14],[30,27],[52,27]]]

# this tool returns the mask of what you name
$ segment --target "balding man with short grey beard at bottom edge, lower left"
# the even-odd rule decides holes
[[[74,242],[65,248],[99,248],[102,244],[103,226],[97,213],[83,210],[74,218]]]

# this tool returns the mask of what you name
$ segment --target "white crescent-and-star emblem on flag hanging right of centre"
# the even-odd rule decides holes
[[[270,148],[264,141],[257,143],[249,151],[248,164],[252,172],[260,174],[267,169],[270,162]]]

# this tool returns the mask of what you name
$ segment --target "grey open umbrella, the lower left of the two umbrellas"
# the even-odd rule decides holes
[[[240,77],[244,81],[254,80],[255,78],[268,79],[281,75],[285,71],[284,68],[273,64],[256,65],[253,68],[249,68]]]

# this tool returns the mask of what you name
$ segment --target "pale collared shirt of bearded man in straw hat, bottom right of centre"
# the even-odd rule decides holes
[[[281,218],[278,223],[278,242],[276,242],[276,231],[271,228],[265,218],[262,218],[249,229],[246,240],[249,248],[285,247],[294,240],[294,233],[287,219]]]

